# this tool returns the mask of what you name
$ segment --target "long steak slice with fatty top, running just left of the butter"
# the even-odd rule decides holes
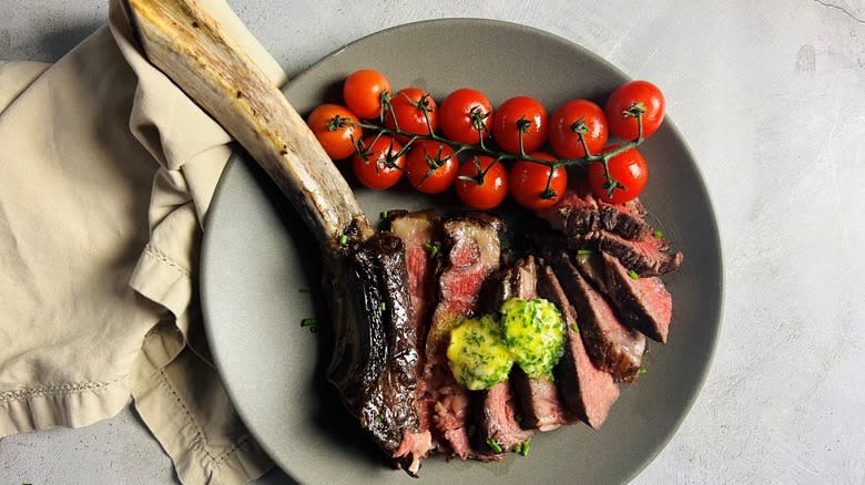
[[[448,368],[447,343],[450,330],[478,312],[481,288],[498,269],[502,223],[489,214],[468,213],[448,218],[441,226],[446,258],[427,334],[423,379],[427,382],[425,399],[432,410],[434,437],[445,451],[465,460],[474,453],[467,429],[471,401]]]

